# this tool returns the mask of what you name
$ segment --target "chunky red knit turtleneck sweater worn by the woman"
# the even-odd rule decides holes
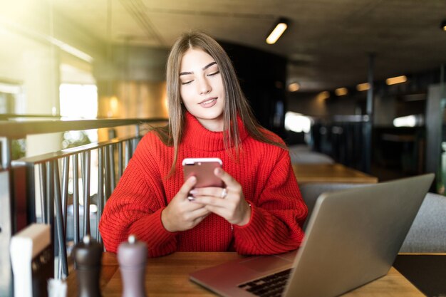
[[[142,137],[100,219],[105,249],[116,252],[130,234],[147,243],[149,256],[234,249],[240,254],[278,254],[298,248],[307,209],[289,153],[254,140],[239,120],[242,150],[236,161],[224,150],[222,132],[205,129],[190,113],[185,118],[175,174],[169,179],[166,176],[172,165],[173,147],[164,145],[155,132]],[[264,132],[282,141],[272,132]],[[251,204],[248,224],[232,226],[210,214],[187,231],[172,233],[164,228],[161,212],[184,182],[181,162],[186,157],[222,159],[223,170],[242,185],[244,197]]]

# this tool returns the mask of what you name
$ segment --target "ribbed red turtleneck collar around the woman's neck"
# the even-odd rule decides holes
[[[243,141],[248,132],[245,130],[242,119],[237,116],[237,125],[239,126],[240,139]],[[197,150],[214,152],[224,150],[223,132],[209,131],[195,116],[189,112],[185,113],[185,127],[183,130],[182,143],[195,147]]]

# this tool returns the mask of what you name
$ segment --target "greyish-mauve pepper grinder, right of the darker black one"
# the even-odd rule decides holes
[[[123,297],[146,297],[145,264],[147,246],[135,235],[118,246],[118,261],[123,279]]]

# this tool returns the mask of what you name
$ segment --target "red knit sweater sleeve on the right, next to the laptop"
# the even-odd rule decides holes
[[[288,152],[271,170],[259,202],[251,203],[251,219],[234,226],[239,254],[279,254],[297,249],[304,239],[308,210],[301,197]]]

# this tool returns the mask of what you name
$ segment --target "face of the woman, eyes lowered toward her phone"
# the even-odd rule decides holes
[[[182,56],[180,95],[186,109],[211,131],[223,130],[224,86],[212,56],[190,48]]]

